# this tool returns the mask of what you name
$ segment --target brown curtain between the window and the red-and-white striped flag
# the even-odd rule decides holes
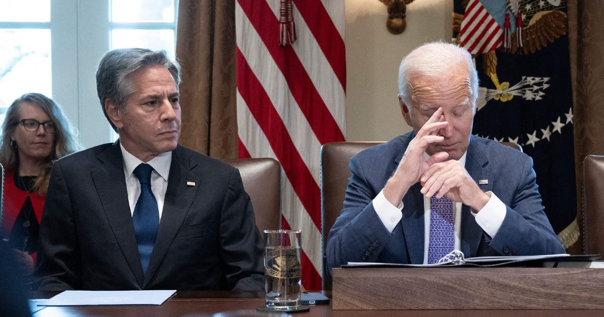
[[[176,57],[182,65],[180,142],[237,158],[235,1],[180,0]]]

